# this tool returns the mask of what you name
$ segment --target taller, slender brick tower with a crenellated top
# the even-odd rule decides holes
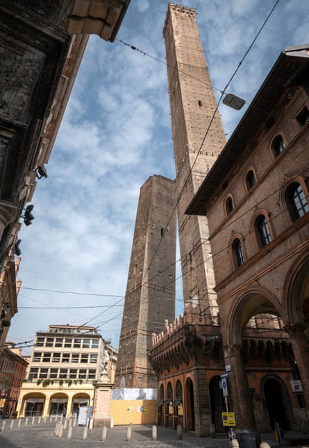
[[[185,209],[224,147],[219,117],[201,40],[196,10],[169,3],[163,30],[176,163],[176,201],[187,312],[209,323],[217,316],[208,223]]]

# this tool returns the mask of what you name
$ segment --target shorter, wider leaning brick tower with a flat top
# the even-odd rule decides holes
[[[175,182],[151,176],[142,185],[128,271],[116,388],[156,388],[148,360],[151,333],[175,316]]]

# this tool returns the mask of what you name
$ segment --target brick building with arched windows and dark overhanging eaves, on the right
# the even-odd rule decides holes
[[[309,44],[281,53],[188,208],[208,217],[228,401],[247,429],[259,422],[257,397],[269,427],[308,427],[308,74]],[[255,383],[243,335],[259,313],[281,317],[290,373]]]

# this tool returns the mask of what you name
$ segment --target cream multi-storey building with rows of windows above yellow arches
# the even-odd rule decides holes
[[[112,349],[93,326],[49,325],[38,331],[26,381],[19,396],[19,417],[74,415],[92,406],[94,385],[115,372]]]

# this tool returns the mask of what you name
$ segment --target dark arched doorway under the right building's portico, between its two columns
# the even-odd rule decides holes
[[[269,424],[274,429],[274,422],[285,431],[290,430],[290,423],[285,413],[282,385],[274,378],[269,378],[264,383],[264,393],[269,415]]]

